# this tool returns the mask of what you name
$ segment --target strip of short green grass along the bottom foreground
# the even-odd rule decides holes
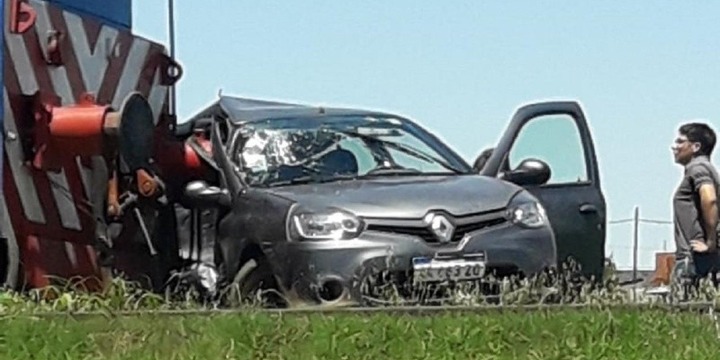
[[[576,309],[433,313],[6,317],[12,359],[717,359],[707,313]]]

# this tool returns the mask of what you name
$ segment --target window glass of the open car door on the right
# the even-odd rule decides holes
[[[528,121],[513,142],[507,165],[515,169],[527,158],[540,159],[550,166],[547,184],[588,181],[582,137],[570,115],[544,115]]]

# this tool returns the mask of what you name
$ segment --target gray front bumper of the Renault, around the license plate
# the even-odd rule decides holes
[[[438,253],[459,257],[483,254],[486,274],[497,270],[502,274],[532,275],[557,262],[550,227],[529,229],[510,223],[469,233],[457,243],[443,245],[410,235],[365,231],[353,240],[283,242],[268,250],[275,274],[286,291],[296,301],[314,305],[359,303],[366,277],[382,272],[410,273],[413,258]]]

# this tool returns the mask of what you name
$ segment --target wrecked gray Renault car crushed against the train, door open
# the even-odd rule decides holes
[[[575,102],[521,107],[475,166],[384,112],[222,96],[187,126],[217,172],[185,187],[188,207],[217,214],[193,226],[212,236],[192,236],[242,298],[364,304],[378,284],[412,297],[568,258],[602,274],[605,200]]]

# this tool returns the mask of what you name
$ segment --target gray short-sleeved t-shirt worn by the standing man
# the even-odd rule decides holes
[[[675,223],[675,248],[678,259],[691,254],[690,241],[704,239],[700,186],[715,184],[720,189],[720,176],[707,156],[697,156],[685,165],[685,176],[675,191],[673,212]]]

